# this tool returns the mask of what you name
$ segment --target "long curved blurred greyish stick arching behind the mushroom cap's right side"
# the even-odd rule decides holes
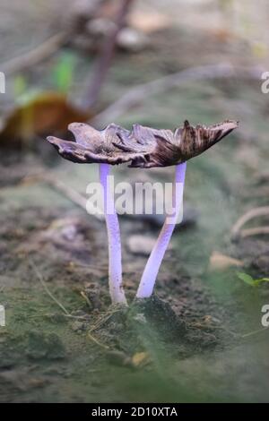
[[[119,116],[126,113],[147,99],[150,95],[159,94],[163,91],[179,86],[189,81],[199,81],[203,79],[254,79],[260,80],[264,69],[261,67],[233,66],[231,64],[202,65],[191,67],[178,73],[169,74],[152,82],[143,83],[128,90],[122,98],[109,105],[100,114],[91,119],[91,125],[102,126],[108,122],[115,121]]]

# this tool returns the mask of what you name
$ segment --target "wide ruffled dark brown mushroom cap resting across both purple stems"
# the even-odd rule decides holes
[[[76,142],[53,136],[48,142],[63,158],[81,164],[130,162],[129,167],[136,168],[168,167],[200,155],[237,127],[238,122],[230,120],[208,127],[193,127],[186,121],[174,133],[143,125],[133,125],[130,132],[114,124],[99,131],[91,125],[72,123],[68,129]]]

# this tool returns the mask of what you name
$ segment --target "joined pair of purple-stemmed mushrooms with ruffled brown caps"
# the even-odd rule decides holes
[[[108,165],[129,162],[131,168],[176,166],[172,198],[175,211],[172,216],[165,219],[157,243],[143,271],[136,295],[138,298],[148,297],[152,295],[161,261],[177,222],[178,210],[182,202],[182,194],[180,194],[181,197],[177,194],[177,185],[185,183],[187,160],[211,148],[237,127],[238,122],[230,120],[208,127],[204,125],[193,127],[186,121],[183,127],[179,127],[173,133],[170,130],[152,129],[142,125],[133,125],[132,131],[128,131],[114,124],[98,131],[91,125],[72,123],[68,129],[74,134],[76,142],[64,141],[53,136],[48,137],[48,142],[56,147],[63,158],[82,164],[100,164],[100,183],[104,191],[108,229],[109,291],[112,303],[126,304],[126,296],[122,288],[121,245],[117,213],[108,192]]]

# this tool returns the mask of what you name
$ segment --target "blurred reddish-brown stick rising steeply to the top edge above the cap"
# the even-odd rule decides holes
[[[82,104],[82,107],[85,109],[91,109],[99,99],[101,87],[108,74],[109,65],[114,55],[117,35],[124,26],[126,14],[133,1],[134,0],[122,0],[122,4],[117,14],[116,28],[105,41],[100,60],[98,60],[98,63],[96,64],[90,88],[89,90],[86,90],[86,96]]]

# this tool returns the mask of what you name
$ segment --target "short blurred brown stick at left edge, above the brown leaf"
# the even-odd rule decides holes
[[[47,39],[42,44],[39,44],[39,46],[27,53],[0,64],[0,69],[6,75],[10,75],[12,73],[20,72],[24,68],[38,64],[40,61],[54,54],[57,49],[63,45],[65,39],[66,33],[64,31],[58,32],[56,35],[53,35],[51,38]]]

